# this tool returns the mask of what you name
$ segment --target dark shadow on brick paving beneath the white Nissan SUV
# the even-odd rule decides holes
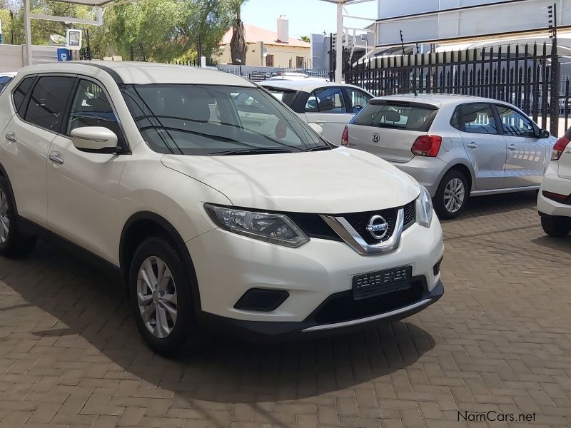
[[[101,352],[110,360],[101,376],[141,379],[193,406],[196,400],[254,404],[335,392],[410,367],[435,347],[428,332],[401,321],[276,345],[208,337],[196,352],[188,346],[167,359],[144,344],[121,285],[54,245],[39,243],[25,260],[0,258],[0,281],[24,299],[0,312],[29,306],[45,312],[34,315],[47,320],[31,330],[37,340]]]

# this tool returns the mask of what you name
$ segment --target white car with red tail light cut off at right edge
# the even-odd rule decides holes
[[[537,210],[547,235],[566,236],[571,232],[571,128],[567,130],[551,154],[551,163],[537,195]]]

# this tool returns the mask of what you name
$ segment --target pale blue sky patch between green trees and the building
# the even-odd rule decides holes
[[[375,19],[377,2],[345,6],[349,15]],[[285,15],[290,21],[290,37],[299,39],[311,33],[335,33],[337,6],[320,0],[249,0],[242,6],[242,21],[276,31],[276,19]],[[347,27],[363,28],[370,21],[345,19]]]

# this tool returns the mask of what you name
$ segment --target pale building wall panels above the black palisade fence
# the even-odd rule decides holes
[[[557,3],[557,24],[571,26],[571,1],[525,0],[497,4],[497,0],[378,0],[377,45],[400,44],[400,30],[406,43],[470,38],[515,31],[545,29],[547,6]],[[458,7],[475,4],[489,6],[473,9]],[[421,14],[409,18],[394,18]]]

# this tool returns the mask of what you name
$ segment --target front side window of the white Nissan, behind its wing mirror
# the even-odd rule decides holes
[[[81,80],[71,103],[66,134],[82,126],[103,126],[116,133],[121,141],[121,128],[105,92],[97,83]]]

